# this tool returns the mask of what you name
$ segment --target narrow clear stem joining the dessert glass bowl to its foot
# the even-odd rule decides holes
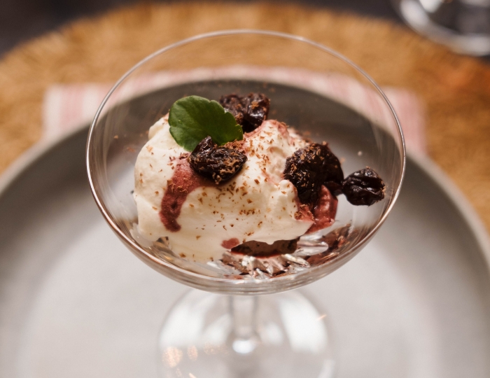
[[[259,344],[257,332],[256,295],[234,295],[229,297],[232,332],[230,344],[232,349],[241,355],[252,353]]]

